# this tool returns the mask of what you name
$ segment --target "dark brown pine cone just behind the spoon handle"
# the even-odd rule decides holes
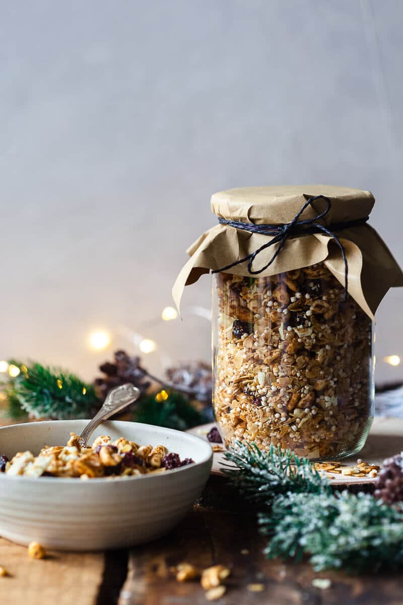
[[[140,358],[131,357],[124,351],[116,351],[114,358],[114,363],[106,361],[99,367],[105,376],[94,380],[97,397],[104,401],[111,388],[126,384],[126,382],[131,382],[140,389],[142,394],[146,393],[150,382],[146,380],[147,372],[141,367]]]

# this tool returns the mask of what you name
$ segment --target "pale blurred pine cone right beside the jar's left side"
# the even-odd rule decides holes
[[[169,368],[166,375],[174,387],[189,388],[195,399],[211,403],[213,379],[210,364],[202,361],[183,363],[175,368]]]

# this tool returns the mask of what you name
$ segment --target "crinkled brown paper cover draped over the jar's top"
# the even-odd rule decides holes
[[[331,208],[320,221],[332,231],[340,224],[367,217],[375,203],[370,191],[329,185],[262,186],[220,191],[211,197],[211,210],[226,220],[254,224],[285,224],[292,221],[311,197],[324,195]],[[312,201],[300,220],[312,219],[324,210],[324,200]],[[373,319],[375,311],[390,287],[403,286],[403,273],[386,244],[369,224],[335,231],[348,262],[348,292],[361,309]],[[180,305],[184,287],[198,281],[210,270],[218,270],[253,253],[271,237],[216,224],[196,240],[187,252],[190,259],[173,286],[173,298]],[[254,270],[271,259],[274,246],[256,257]],[[344,286],[344,262],[340,249],[328,235],[318,233],[287,238],[276,260],[259,276],[276,275],[323,262]],[[250,275],[248,262],[237,264],[227,273]]]

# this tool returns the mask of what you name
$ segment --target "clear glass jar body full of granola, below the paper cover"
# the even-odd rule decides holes
[[[324,264],[214,276],[213,408],[225,445],[313,460],[363,447],[374,411],[371,319]]]

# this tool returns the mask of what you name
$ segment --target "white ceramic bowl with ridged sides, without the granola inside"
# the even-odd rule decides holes
[[[0,428],[0,453],[38,454],[45,445],[65,445],[86,420],[31,422]],[[140,544],[166,534],[192,508],[210,474],[213,453],[199,437],[137,422],[104,422],[92,434],[126,437],[140,445],[165,445],[195,464],[155,476],[127,479],[8,477],[0,473],[0,535],[18,544],[103,550]]]

